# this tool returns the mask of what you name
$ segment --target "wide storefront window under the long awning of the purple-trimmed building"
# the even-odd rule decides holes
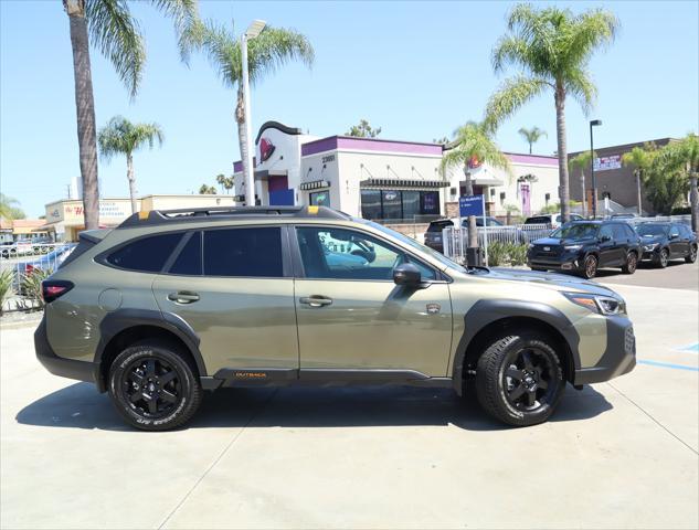
[[[362,218],[370,220],[412,220],[417,215],[439,214],[438,191],[361,190]]]

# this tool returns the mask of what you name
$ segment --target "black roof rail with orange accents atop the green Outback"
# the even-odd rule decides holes
[[[129,215],[117,229],[149,226],[203,219],[266,218],[282,215],[299,219],[350,219],[346,213],[327,206],[213,206],[180,208],[177,210],[145,210]]]

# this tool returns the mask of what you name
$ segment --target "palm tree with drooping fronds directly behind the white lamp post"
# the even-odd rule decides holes
[[[223,25],[212,21],[191,24],[184,36],[186,50],[202,50],[211,64],[219,71],[221,80],[226,86],[237,89],[235,106],[235,121],[241,158],[247,160],[247,137],[245,129],[245,107],[243,103],[243,87],[241,85],[242,59],[241,41],[237,35]],[[308,39],[290,29],[265,29],[247,43],[247,63],[251,84],[255,85],[268,74],[290,61],[301,61],[308,67],[314,62],[315,52]],[[244,182],[247,181],[246,168],[243,163]]]

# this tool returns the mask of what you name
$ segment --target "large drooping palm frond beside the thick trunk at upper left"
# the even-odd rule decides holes
[[[92,43],[112,62],[117,75],[134,97],[146,63],[146,47],[128,2],[87,0],[85,17]]]

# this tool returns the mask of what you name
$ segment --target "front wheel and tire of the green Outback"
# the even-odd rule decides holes
[[[478,359],[478,402],[508,425],[546,422],[564,390],[561,361],[546,336],[515,330],[497,338]]]

